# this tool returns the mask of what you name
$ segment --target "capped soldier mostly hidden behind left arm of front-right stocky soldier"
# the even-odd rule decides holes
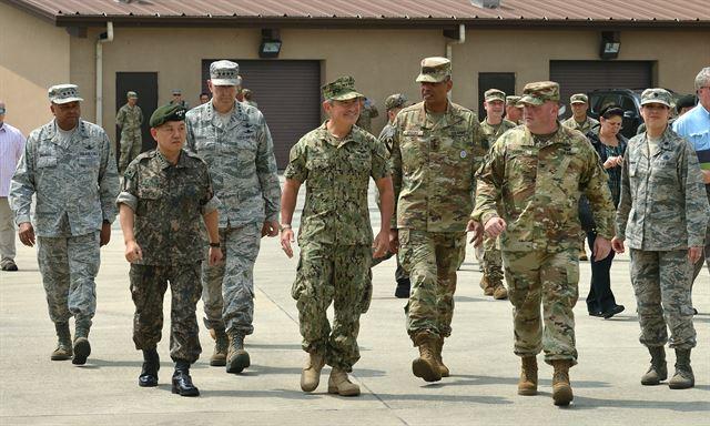
[[[506,93],[498,89],[489,89],[484,93],[484,109],[486,119],[480,122],[480,130],[484,132],[484,148],[489,150],[500,135],[517,124],[503,118],[505,112]],[[508,291],[503,285],[503,260],[498,239],[484,237],[484,276],[480,278],[480,288],[486,296],[496,300],[508,298]]]

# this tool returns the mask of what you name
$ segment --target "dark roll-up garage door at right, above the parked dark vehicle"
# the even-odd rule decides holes
[[[596,89],[646,89],[652,84],[650,61],[550,61],[550,80],[559,83],[564,104],[575,93]],[[567,108],[565,116],[571,115]]]

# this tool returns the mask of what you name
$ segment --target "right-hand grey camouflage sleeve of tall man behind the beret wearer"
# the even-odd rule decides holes
[[[261,129],[258,134],[258,148],[256,152],[256,175],[264,197],[264,212],[266,221],[277,221],[281,210],[281,186],[276,171],[276,158],[274,156],[274,142],[264,116],[261,115]]]

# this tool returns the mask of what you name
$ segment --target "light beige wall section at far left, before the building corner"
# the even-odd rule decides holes
[[[69,82],[69,39],[63,28],[0,2],[0,99],[6,121],[24,135],[52,118],[47,89]]]

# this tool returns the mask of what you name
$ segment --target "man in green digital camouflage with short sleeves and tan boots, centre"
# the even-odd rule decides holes
[[[392,179],[385,146],[354,125],[361,98],[352,77],[323,87],[323,109],[328,120],[308,132],[291,149],[282,196],[281,245],[293,256],[291,220],[301,185],[306,201],[301,217],[301,255],[292,296],[298,307],[303,349],[308,359],[301,388],[313,392],[321,369],[333,367],[328,393],[359,395],[347,377],[359,359],[359,316],[369,306],[371,263],[389,246],[394,206]],[[367,185],[375,181],[381,196],[382,227],[373,244],[367,209]],[[326,310],[334,303],[333,327]]]

